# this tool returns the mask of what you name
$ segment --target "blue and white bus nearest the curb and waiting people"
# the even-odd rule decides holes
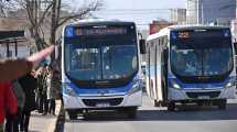
[[[63,100],[71,119],[100,109],[136,118],[142,97],[139,48],[133,22],[93,20],[64,28]]]

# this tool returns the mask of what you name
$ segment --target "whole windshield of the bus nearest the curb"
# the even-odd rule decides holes
[[[115,80],[138,70],[136,44],[66,44],[66,73],[76,80]]]

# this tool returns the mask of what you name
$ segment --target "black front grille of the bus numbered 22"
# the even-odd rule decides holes
[[[220,95],[220,91],[206,91],[206,92],[186,92],[190,98],[198,98],[202,96],[207,96],[209,98],[217,98]]]

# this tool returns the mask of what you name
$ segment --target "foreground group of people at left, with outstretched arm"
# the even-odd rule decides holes
[[[40,108],[35,99],[40,75],[32,70],[53,50],[51,46],[26,58],[0,59],[0,132],[28,132],[31,111]]]

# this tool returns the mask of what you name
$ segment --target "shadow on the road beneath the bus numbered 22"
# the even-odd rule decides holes
[[[237,120],[237,105],[229,103],[227,110],[216,108],[183,108],[175,112],[166,110],[140,110],[137,121],[214,121]]]

